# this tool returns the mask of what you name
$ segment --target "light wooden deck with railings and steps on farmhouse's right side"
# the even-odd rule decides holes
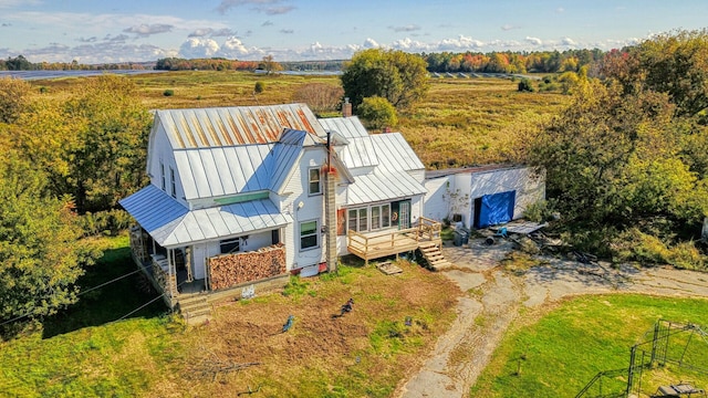
[[[374,233],[358,233],[348,230],[346,248],[350,253],[364,259],[368,265],[368,260],[415,251],[423,242],[441,244],[440,229],[439,222],[420,217],[416,227],[405,230]]]

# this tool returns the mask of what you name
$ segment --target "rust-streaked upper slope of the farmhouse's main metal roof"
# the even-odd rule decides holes
[[[156,111],[174,149],[274,143],[284,128],[324,136],[304,104]]]

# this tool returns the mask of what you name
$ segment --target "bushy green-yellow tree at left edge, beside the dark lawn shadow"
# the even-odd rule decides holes
[[[79,243],[72,202],[14,151],[0,160],[0,321],[42,316],[76,300],[73,283],[93,255]]]

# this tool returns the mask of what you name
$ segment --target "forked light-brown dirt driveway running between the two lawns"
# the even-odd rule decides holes
[[[524,306],[534,308],[570,295],[613,292],[708,296],[708,274],[671,269],[615,270],[608,264],[549,258],[544,265],[514,275],[499,265],[511,250],[510,242],[488,247],[482,241],[473,241],[468,248],[444,248],[446,258],[456,264],[444,273],[467,294],[458,303],[458,316],[450,329],[397,397],[467,397]]]

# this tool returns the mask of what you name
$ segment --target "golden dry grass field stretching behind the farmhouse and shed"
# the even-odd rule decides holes
[[[339,86],[337,76],[262,75],[248,72],[167,72],[133,75],[148,108],[292,103],[306,83]],[[35,81],[59,94],[81,78]],[[263,92],[254,95],[257,82]],[[519,160],[519,143],[568,103],[559,93],[520,93],[508,78],[431,78],[427,97],[399,113],[399,130],[428,168]],[[171,91],[171,95],[165,95]],[[333,115],[337,115],[335,111]],[[326,116],[326,115],[324,115]],[[331,115],[330,115],[331,116]]]

